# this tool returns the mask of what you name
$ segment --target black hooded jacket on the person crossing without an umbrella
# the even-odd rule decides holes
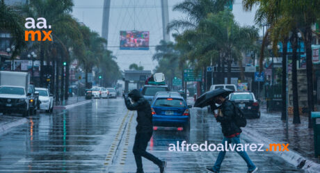
[[[131,101],[128,97],[134,101],[133,104],[131,104]],[[127,106],[127,109],[137,110],[138,114],[138,117],[136,118],[136,122],[138,122],[138,125],[136,126],[136,132],[152,133],[152,112],[149,102],[138,90],[132,90],[129,92],[128,97],[125,97],[125,105]]]

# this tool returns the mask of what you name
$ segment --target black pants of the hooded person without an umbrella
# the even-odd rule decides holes
[[[147,149],[147,142],[149,142],[151,136],[152,136],[152,133],[136,133],[133,151],[134,151],[134,158],[136,159],[137,172],[143,171],[141,156],[143,156],[144,158],[147,158],[147,160],[152,161],[154,164],[158,166],[162,165],[162,161],[159,160],[159,158],[145,151],[145,149]]]

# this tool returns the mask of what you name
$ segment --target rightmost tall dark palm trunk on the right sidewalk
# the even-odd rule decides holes
[[[313,102],[313,72],[312,72],[312,31],[311,26],[307,26],[305,31],[305,50],[307,53],[307,114],[308,128],[312,128],[311,112],[314,111]]]

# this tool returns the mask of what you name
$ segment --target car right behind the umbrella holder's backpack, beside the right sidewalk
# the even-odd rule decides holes
[[[253,92],[233,92],[229,95],[229,99],[242,110],[245,117],[260,117],[259,102]]]

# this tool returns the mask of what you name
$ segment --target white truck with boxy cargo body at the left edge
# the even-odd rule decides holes
[[[39,108],[39,93],[26,72],[0,72],[0,113],[33,115]]]

